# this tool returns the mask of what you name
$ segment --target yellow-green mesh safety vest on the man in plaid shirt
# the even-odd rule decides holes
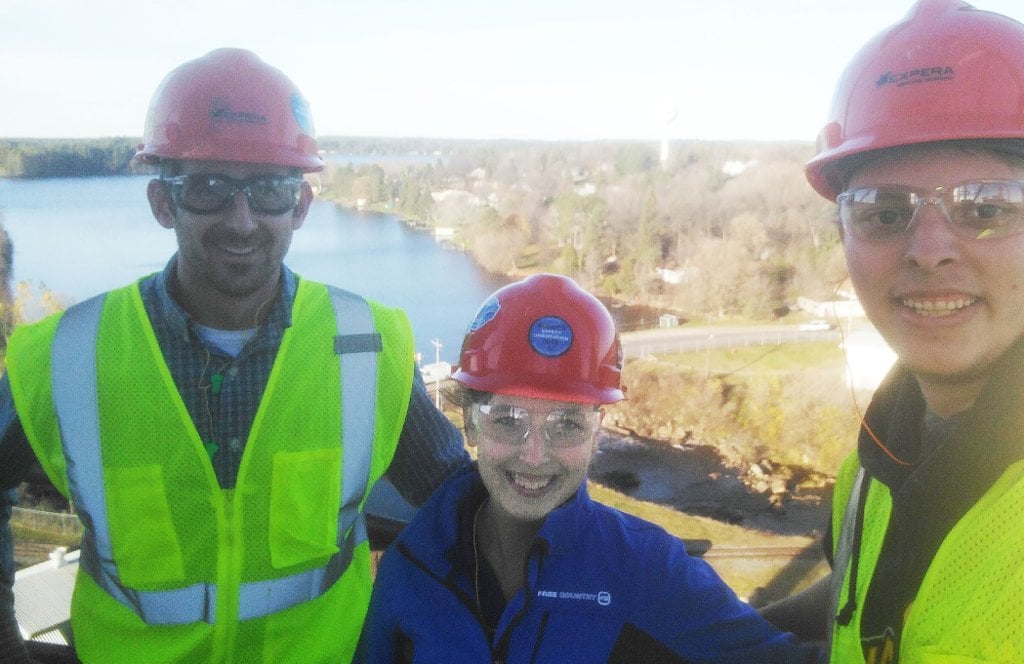
[[[397,445],[413,336],[302,280],[232,490],[222,490],[136,285],[15,330],[26,434],[83,526],[84,662],[346,662],[371,590],[362,506]]]

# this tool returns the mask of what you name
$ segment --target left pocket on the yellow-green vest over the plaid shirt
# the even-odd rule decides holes
[[[184,579],[163,467],[105,468],[103,472],[111,547],[122,582],[146,589]]]

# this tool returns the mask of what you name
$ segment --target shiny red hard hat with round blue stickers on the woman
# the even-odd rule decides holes
[[[568,277],[535,275],[480,306],[454,377],[481,391],[610,404],[625,399],[622,367],[604,304]]]

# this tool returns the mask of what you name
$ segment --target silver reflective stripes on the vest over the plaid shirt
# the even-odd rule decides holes
[[[361,297],[329,288],[337,322],[342,407],[342,504],[338,548],[323,568],[292,576],[242,584],[240,620],[258,618],[309,601],[345,573],[355,547],[367,540],[359,505],[367,493],[373,458],[377,406],[377,352],[370,304]],[[214,622],[216,584],[199,583],[165,591],[140,591],[121,583],[111,544],[99,439],[96,345],[105,296],[69,308],[53,337],[53,405],[79,517],[86,527],[81,565],[112,597],[131,608],[146,624]],[[373,341],[376,338],[376,341]],[[354,343],[350,342],[354,340]],[[369,342],[368,342],[369,341]]]

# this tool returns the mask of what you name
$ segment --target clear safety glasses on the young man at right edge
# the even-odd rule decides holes
[[[1024,182],[977,180],[934,190],[861,186],[836,199],[843,231],[860,240],[887,242],[906,233],[923,205],[935,205],[961,237],[1002,238],[1024,232]]]

